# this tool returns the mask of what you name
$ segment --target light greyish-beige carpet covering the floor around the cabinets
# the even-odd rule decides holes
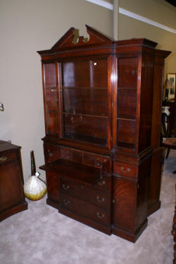
[[[107,236],[46,205],[27,200],[29,210],[0,223],[0,264],[169,264],[175,206],[176,151],[165,161],[161,210],[136,243]],[[10,191],[10,190],[9,190]]]

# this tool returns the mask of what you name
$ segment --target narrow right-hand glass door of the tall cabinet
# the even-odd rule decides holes
[[[117,147],[137,147],[137,90],[139,57],[119,57],[117,95]]]

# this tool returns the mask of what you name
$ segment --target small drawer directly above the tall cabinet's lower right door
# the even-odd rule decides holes
[[[113,172],[114,175],[122,175],[130,178],[136,178],[137,174],[135,166],[127,163],[121,163],[118,161],[114,161],[113,163]]]

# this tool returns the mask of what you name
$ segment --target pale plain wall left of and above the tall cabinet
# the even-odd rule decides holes
[[[22,147],[25,180],[30,150],[37,168],[44,163],[42,70],[36,51],[50,49],[71,26],[81,35],[88,24],[112,36],[112,23],[112,11],[83,0],[1,0],[0,101],[5,112],[0,112],[0,139]]]

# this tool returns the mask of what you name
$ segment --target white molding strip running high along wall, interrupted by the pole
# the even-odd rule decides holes
[[[86,1],[91,2],[92,4],[97,4],[99,6],[103,6],[104,8],[108,8],[110,10],[113,10],[113,4],[108,3],[106,1],[103,1],[103,0],[86,0]],[[151,20],[149,18],[145,18],[144,16],[139,16],[139,15],[137,15],[137,13],[133,13],[131,11],[127,11],[124,8],[119,7],[119,13],[121,13],[124,16],[128,16],[130,18],[134,18],[137,21],[142,21],[142,22],[147,23],[149,25],[153,25],[153,26],[155,26],[157,28],[161,28],[163,30],[166,30],[168,32],[171,32],[173,34],[176,34],[176,30],[175,29],[170,28],[167,25],[163,25],[161,23],[158,23],[156,21],[153,21],[153,20]]]

